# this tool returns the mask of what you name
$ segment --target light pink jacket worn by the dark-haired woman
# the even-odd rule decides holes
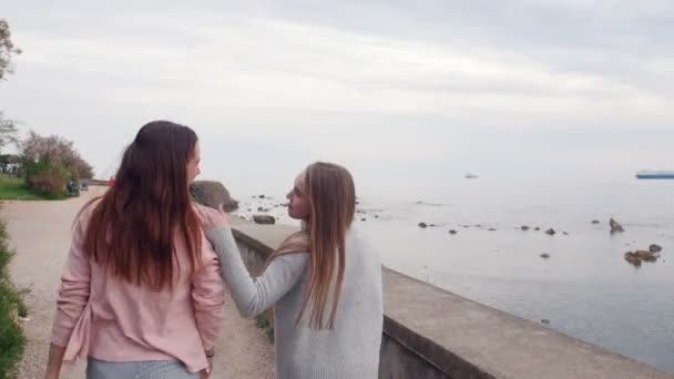
[[[52,342],[67,347],[64,360],[178,360],[191,372],[206,369],[205,350],[219,332],[224,284],[205,235],[201,269],[193,277],[174,270],[177,284],[157,293],[114,278],[86,257],[82,245],[89,217],[86,209],[76,221],[57,301]],[[176,237],[176,252],[174,263],[187,267],[183,238]]]

